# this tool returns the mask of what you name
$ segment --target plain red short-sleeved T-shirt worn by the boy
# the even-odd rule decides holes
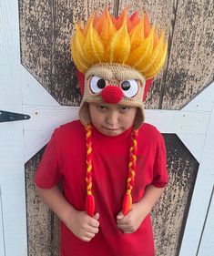
[[[61,256],[154,256],[149,215],[134,233],[117,228],[116,217],[126,191],[131,129],[106,136],[92,128],[93,194],[99,213],[99,232],[81,241],[61,223]],[[62,179],[66,200],[85,210],[86,134],[79,120],[56,128],[36,170],[36,185],[49,189]],[[138,159],[133,202],[144,195],[148,184],[164,187],[168,182],[166,148],[158,129],[144,123],[138,133]]]

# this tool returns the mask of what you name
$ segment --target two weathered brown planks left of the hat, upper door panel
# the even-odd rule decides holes
[[[61,105],[81,101],[69,41],[75,24],[114,1],[20,0],[22,63]]]

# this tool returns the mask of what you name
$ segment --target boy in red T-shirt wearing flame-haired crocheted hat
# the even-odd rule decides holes
[[[147,15],[128,17],[127,9],[76,26],[80,120],[55,129],[35,179],[61,220],[61,256],[154,256],[149,212],[168,173],[164,139],[144,123],[142,99],[164,64],[164,37]]]

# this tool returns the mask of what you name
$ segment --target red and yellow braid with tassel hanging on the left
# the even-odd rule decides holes
[[[87,198],[86,198],[86,211],[91,217],[94,216],[95,212],[95,199],[92,194],[92,140],[91,140],[91,125],[86,127],[86,138],[87,138]]]

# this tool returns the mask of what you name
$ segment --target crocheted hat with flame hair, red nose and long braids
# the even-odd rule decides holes
[[[71,39],[71,54],[78,69],[77,77],[83,99],[79,118],[87,134],[87,199],[86,209],[90,216],[95,210],[92,193],[92,143],[89,103],[118,104],[137,107],[129,150],[127,189],[122,210],[131,209],[131,191],[134,186],[137,160],[138,128],[145,119],[143,99],[161,67],[168,51],[165,31],[158,34],[148,15],[138,12],[127,15],[125,8],[121,15],[113,17],[108,11],[102,15],[91,15],[86,26],[80,21]]]

